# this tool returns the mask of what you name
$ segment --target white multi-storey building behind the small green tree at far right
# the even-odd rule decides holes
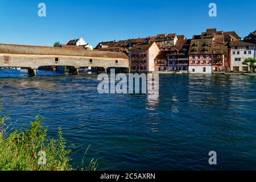
[[[242,63],[247,58],[256,58],[256,44],[237,40],[230,42],[230,48],[230,71],[249,71],[250,68]]]

